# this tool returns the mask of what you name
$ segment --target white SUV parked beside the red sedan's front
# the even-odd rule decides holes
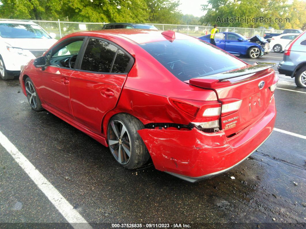
[[[31,21],[0,21],[0,77],[4,80],[19,75],[21,66],[43,55],[55,42],[50,35]]]

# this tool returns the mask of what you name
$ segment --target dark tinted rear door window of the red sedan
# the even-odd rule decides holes
[[[91,72],[110,72],[117,47],[109,42],[90,39],[86,47],[81,69]]]

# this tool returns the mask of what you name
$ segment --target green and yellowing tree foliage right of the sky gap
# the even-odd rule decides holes
[[[222,23],[222,27],[273,27],[275,29],[284,28],[301,28],[306,23],[306,11],[304,0],[294,0],[292,4],[288,4],[287,0],[208,0],[207,5],[202,5],[202,10],[207,12],[205,16],[200,18],[201,24],[215,24],[218,16],[229,17],[234,16],[247,18],[257,17],[271,17],[290,19],[290,23],[276,23],[276,22],[251,22],[241,23],[239,21]]]

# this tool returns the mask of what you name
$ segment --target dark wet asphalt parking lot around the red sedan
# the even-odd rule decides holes
[[[239,58],[250,64],[278,63],[282,55],[272,52],[256,60]],[[89,223],[81,227],[108,225],[100,223],[304,227],[306,89],[296,87],[288,76],[279,77],[276,129],[271,137],[239,166],[198,183],[157,171],[151,164],[137,170],[122,168],[109,149],[94,139],[47,111],[33,111],[18,79],[1,80],[0,139],[6,136],[36,173],[17,163],[20,154],[14,154],[14,160],[14,152],[5,148],[9,143],[0,144],[0,223],[25,227],[28,223],[77,227],[73,223],[78,222]],[[46,179],[40,185],[28,175],[40,179],[37,172]],[[46,182],[54,190],[42,190]],[[52,200],[45,195],[48,192],[54,195]],[[61,202],[58,197],[65,199]]]

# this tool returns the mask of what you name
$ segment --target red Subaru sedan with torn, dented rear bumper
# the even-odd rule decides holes
[[[174,31],[115,29],[63,37],[24,66],[20,83],[33,110],[108,146],[123,167],[151,157],[195,182],[230,170],[270,136],[273,66]]]

